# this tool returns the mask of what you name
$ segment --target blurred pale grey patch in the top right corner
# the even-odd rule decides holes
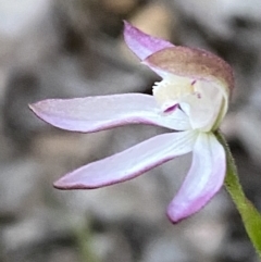
[[[248,2],[170,0],[169,2],[179,9],[185,17],[190,17],[191,21],[202,26],[210,36],[215,35],[224,39],[231,39],[234,36],[234,26],[244,27],[248,22],[260,23],[258,7],[261,5],[258,0]]]

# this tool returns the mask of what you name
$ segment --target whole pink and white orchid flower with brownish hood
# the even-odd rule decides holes
[[[219,57],[149,36],[125,22],[128,48],[161,78],[153,96],[124,93],[75,99],[48,99],[30,105],[53,126],[94,133],[127,124],[163,126],[158,135],[123,152],[84,165],[54,183],[59,189],[92,189],[137,177],[192,152],[190,170],[167,208],[176,223],[204,207],[220,190],[226,154],[215,137],[227,111],[234,80]]]

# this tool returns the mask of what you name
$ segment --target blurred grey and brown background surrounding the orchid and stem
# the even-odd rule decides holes
[[[52,187],[82,164],[164,132],[137,125],[73,134],[28,110],[46,98],[150,93],[158,78],[124,45],[123,20],[233,66],[222,129],[261,210],[260,0],[0,0],[0,261],[257,262],[225,190],[181,224],[167,221],[190,155],[108,188]]]

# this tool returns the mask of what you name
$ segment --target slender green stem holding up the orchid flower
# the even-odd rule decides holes
[[[233,201],[235,202],[236,208],[241,215],[246,232],[256,248],[257,253],[261,258],[261,215],[243,191],[237,175],[237,167],[225,138],[220,132],[216,132],[216,137],[226,151],[226,190],[229,192]]]

